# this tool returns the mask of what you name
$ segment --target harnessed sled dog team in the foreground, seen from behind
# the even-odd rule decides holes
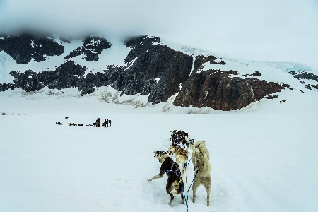
[[[187,187],[184,186],[182,175],[184,175],[187,182],[186,168],[187,161],[189,163],[190,160],[187,159],[189,158],[188,153],[190,152],[191,148],[191,160],[194,166],[193,185],[190,185],[190,187],[192,186],[193,192],[192,202],[194,203],[196,201],[196,189],[202,184],[206,188],[206,204],[209,206],[211,192],[211,164],[209,162],[210,154],[206,148],[206,141],[197,141],[194,143],[194,139],[188,139],[188,134],[184,133],[184,131],[181,133],[183,135],[185,134],[186,136],[183,136],[183,139],[176,139],[176,131],[172,131],[170,138],[172,145],[169,146],[167,152],[153,152],[155,154],[154,158],[157,158],[161,163],[160,173],[151,177],[151,179],[148,179],[148,181],[150,182],[153,179],[161,178],[166,174],[168,177],[166,192],[170,195],[170,201],[168,204],[170,205],[172,203],[173,199],[175,198],[174,194],[181,194],[182,204],[184,204],[184,194],[187,193]],[[172,159],[172,155],[175,155],[175,161]],[[182,172],[179,169],[179,163],[182,163]]]

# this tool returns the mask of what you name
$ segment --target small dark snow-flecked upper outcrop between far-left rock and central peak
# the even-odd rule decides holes
[[[83,57],[86,61],[98,61],[98,54],[102,53],[102,50],[112,47],[110,42],[108,42],[103,37],[87,37],[84,41],[84,44],[81,47],[73,50],[69,55],[64,57],[64,59],[69,59],[71,57],[76,57],[81,54],[85,54],[86,57]]]

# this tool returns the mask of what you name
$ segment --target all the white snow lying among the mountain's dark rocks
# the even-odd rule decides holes
[[[153,40],[160,40],[156,37],[148,37],[149,39]],[[124,71],[131,69],[131,67],[134,65],[136,59],[138,57],[134,57],[131,59],[131,61],[125,61],[127,55],[131,53],[132,47],[126,47],[124,43],[118,42],[118,41],[110,41],[112,42],[112,45],[110,48],[103,49],[100,54],[98,54],[98,60],[97,61],[87,61],[84,59],[86,57],[85,54],[81,54],[75,57],[70,57],[69,55],[71,52],[73,52],[75,49],[85,49],[84,42],[85,40],[71,40],[71,42],[65,42],[63,39],[60,39],[59,37],[50,38],[53,39],[55,42],[57,42],[59,45],[62,45],[64,47],[64,53],[59,56],[45,56],[44,61],[34,61],[34,59],[27,64],[18,64],[15,59],[13,59],[11,56],[9,56],[6,52],[1,51],[0,52],[0,83],[13,83],[13,76],[10,74],[11,71],[18,71],[18,73],[23,73],[26,70],[32,70],[35,73],[43,73],[43,71],[54,71],[59,68],[61,64],[65,64],[68,61],[74,61],[75,65],[80,65],[81,67],[85,67],[85,73],[81,77],[85,77],[88,75],[88,73],[102,73],[104,74],[104,71],[107,69],[108,66],[122,66],[123,73]],[[94,41],[94,40],[93,40]],[[98,45],[98,42],[92,42],[93,45]],[[302,78],[298,79],[295,78],[295,74],[301,74],[301,73],[310,73],[312,70],[310,67],[306,66],[305,64],[299,64],[299,63],[293,63],[293,62],[263,62],[263,61],[247,61],[245,59],[237,59],[234,57],[230,57],[225,54],[221,54],[218,52],[211,52],[204,49],[198,49],[196,47],[188,47],[186,45],[177,45],[170,42],[167,42],[165,40],[162,40],[162,42],[155,42],[153,41],[151,45],[166,45],[170,47],[171,49],[174,49],[177,52],[182,52],[183,54],[187,54],[191,56],[192,59],[192,70],[190,74],[194,73],[194,66],[195,61],[197,57],[216,57],[216,60],[206,61],[201,65],[201,68],[196,70],[196,73],[202,73],[204,71],[208,70],[221,70],[221,71],[236,71],[237,75],[235,77],[240,78],[257,78],[258,80],[265,80],[267,82],[274,82],[274,83],[285,83],[290,86],[293,90],[283,90],[283,93],[298,93],[298,92],[314,92],[317,93],[317,79],[310,79],[310,78]],[[86,49],[90,50],[91,52],[94,52],[93,49]],[[147,54],[147,52],[144,52],[142,54]],[[142,55],[141,54],[141,55]],[[65,59],[65,58],[68,59]],[[151,56],[153,57],[153,56]],[[138,64],[137,66],[139,66]],[[135,69],[138,69],[138,67]],[[254,73],[258,71],[261,73],[261,75],[254,75]],[[295,74],[290,74],[290,71],[295,71]],[[120,73],[122,74],[122,73]],[[119,74],[119,75],[120,75]],[[135,74],[135,73],[134,73]],[[134,77],[134,74],[131,77]],[[32,76],[28,76],[29,78],[32,78]],[[76,76],[77,77],[77,76]],[[130,79],[129,79],[130,80]],[[160,82],[161,78],[154,78],[151,79],[154,81],[155,85],[158,85],[158,82]],[[90,78],[90,83],[94,83],[96,81],[95,78]],[[40,82],[41,83],[41,82]],[[87,81],[86,81],[87,83]],[[4,92],[0,92],[1,96],[23,96],[25,98],[34,98],[36,99],[39,95],[41,95],[41,98],[50,98],[52,95],[55,95],[57,98],[64,98],[69,96],[77,96],[78,98],[96,98],[100,100],[101,102],[114,102],[117,104],[131,104],[134,107],[152,107],[151,103],[149,103],[149,95],[141,95],[141,93],[136,93],[134,95],[126,95],[123,92],[119,92],[118,90],[114,90],[114,84],[110,83],[107,86],[95,86],[92,89],[95,90],[95,92],[90,94],[83,95],[83,90],[79,92],[76,90],[76,88],[64,88],[61,90],[57,89],[49,89],[47,86],[42,88],[42,90],[38,91],[32,91],[30,93],[25,93],[24,90],[16,88],[15,90],[8,89]],[[136,81],[136,83],[139,83],[139,81]],[[82,83],[82,84],[85,84]],[[167,83],[163,83],[163,86],[167,85]],[[309,86],[308,85],[314,85]],[[132,83],[132,86],[135,86],[134,83]],[[182,83],[180,85],[178,84],[180,89],[182,89]],[[307,87],[305,87],[307,86]],[[127,87],[126,87],[127,88]],[[312,89],[309,90],[308,88]],[[153,88],[153,90],[156,90],[158,88]],[[86,88],[87,90],[87,88]],[[122,91],[122,90],[120,90]],[[134,91],[134,90],[132,90]],[[129,93],[129,92],[127,92]],[[175,93],[171,95],[167,100],[160,103],[160,107],[162,111],[172,111],[173,108],[175,108],[174,105],[172,105],[172,102],[174,101],[175,97],[178,93]],[[151,94],[152,95],[152,94]],[[278,94],[278,96],[281,99],[281,93]],[[276,99],[277,101],[278,99]],[[161,100],[162,101],[162,100]],[[264,99],[262,101],[265,101]],[[258,102],[252,103],[252,105],[257,105]],[[188,109],[187,109],[188,110]],[[193,111],[193,110],[192,110]],[[210,109],[195,109],[196,112],[211,112],[213,110]]]

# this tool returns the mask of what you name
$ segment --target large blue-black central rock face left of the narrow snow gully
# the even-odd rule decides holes
[[[165,102],[187,81],[192,56],[176,52],[160,43],[159,37],[137,37],[126,42],[131,47],[125,62],[131,64],[120,73],[113,87],[125,94],[149,95],[148,102]]]

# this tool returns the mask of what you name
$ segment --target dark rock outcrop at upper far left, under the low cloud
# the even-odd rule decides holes
[[[0,51],[9,54],[18,64],[27,64],[31,59],[40,62],[47,56],[61,55],[64,47],[47,37],[30,34],[13,35],[0,40]]]

